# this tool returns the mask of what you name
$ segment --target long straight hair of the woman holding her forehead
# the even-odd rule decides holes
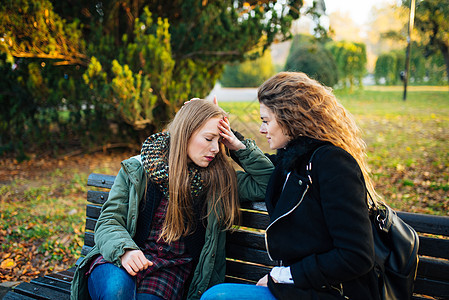
[[[170,243],[193,229],[193,199],[191,199],[187,146],[191,136],[211,118],[223,118],[225,112],[202,99],[189,101],[176,113],[167,126],[170,132],[169,202],[161,238]],[[207,190],[207,215],[214,213],[226,229],[239,219],[237,178],[224,154],[224,146],[206,168],[200,168],[201,180]]]

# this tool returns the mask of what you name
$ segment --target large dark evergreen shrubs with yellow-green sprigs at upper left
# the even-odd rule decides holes
[[[50,150],[140,144],[184,101],[205,97],[226,63],[289,38],[302,5],[4,0],[1,151],[31,137]]]

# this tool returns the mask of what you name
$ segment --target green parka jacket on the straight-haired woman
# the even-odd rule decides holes
[[[274,166],[254,141],[244,140],[243,143],[246,149],[233,151],[245,170],[237,171],[239,199],[241,202],[263,201]],[[124,160],[121,165],[96,225],[95,246],[75,271],[71,300],[90,299],[85,274],[94,256],[101,253],[106,260],[121,267],[120,257],[125,249],[139,249],[132,238],[136,233],[139,202],[145,192],[145,171],[140,155]],[[207,220],[205,244],[193,273],[187,299],[199,299],[209,287],[224,281],[225,242],[226,232],[212,213]]]

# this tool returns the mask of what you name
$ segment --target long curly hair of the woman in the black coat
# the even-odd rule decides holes
[[[380,200],[370,176],[361,131],[332,89],[304,73],[281,72],[259,87],[258,98],[273,111],[286,135],[328,141],[350,153],[362,170],[373,201]]]

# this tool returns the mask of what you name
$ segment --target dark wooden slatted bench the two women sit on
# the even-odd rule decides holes
[[[101,205],[108,198],[115,176],[94,174],[88,186],[102,188],[87,192],[86,232],[81,254],[86,255],[94,245],[95,223]],[[106,190],[105,190],[106,189]],[[449,299],[449,217],[398,212],[399,216],[418,231],[420,261],[415,283],[414,299]],[[269,224],[264,203],[245,204],[242,208],[242,228],[228,233],[228,282],[254,284],[276,263],[265,252],[263,230]],[[78,260],[79,261],[79,260]],[[76,266],[59,273],[23,282],[3,299],[69,299],[70,282]]]

